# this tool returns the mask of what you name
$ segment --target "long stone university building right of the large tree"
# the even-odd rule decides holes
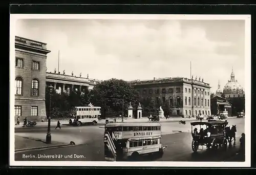
[[[129,81],[142,98],[155,104],[168,103],[170,110],[165,115],[195,117],[211,115],[210,85],[201,80],[188,78],[159,78]],[[158,108],[160,106],[157,106]]]

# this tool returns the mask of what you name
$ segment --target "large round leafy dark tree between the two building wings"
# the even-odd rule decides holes
[[[97,84],[91,91],[90,99],[94,105],[102,107],[102,115],[117,116],[122,114],[131,102],[138,105],[140,96],[130,83],[121,79],[109,79]]]

